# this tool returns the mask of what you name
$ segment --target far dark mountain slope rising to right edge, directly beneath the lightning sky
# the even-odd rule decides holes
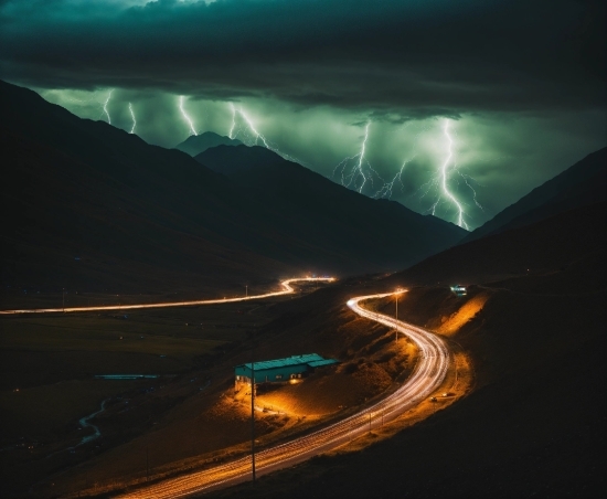
[[[472,231],[460,244],[491,233],[523,226],[572,208],[606,201],[606,170],[607,148],[603,148],[533,189]]]

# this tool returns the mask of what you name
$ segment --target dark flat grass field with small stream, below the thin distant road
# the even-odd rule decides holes
[[[103,401],[106,411],[93,423],[102,422],[106,445],[108,436],[130,438],[145,431],[155,414],[204,386],[202,379],[188,383],[189,373],[262,327],[268,305],[0,318],[0,464],[2,475],[4,475],[4,484],[22,490],[50,469],[89,457],[98,442],[78,447],[76,456],[68,449],[93,434],[78,420]],[[98,374],[158,378],[103,380]],[[106,414],[118,414],[117,422],[105,421]]]

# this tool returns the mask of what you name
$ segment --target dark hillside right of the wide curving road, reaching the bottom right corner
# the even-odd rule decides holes
[[[603,210],[595,205],[561,213],[451,248],[401,273],[398,279],[385,279],[384,289],[393,289],[420,279],[425,272],[441,279],[451,276],[451,267],[470,275],[484,273],[472,295],[489,294],[489,299],[451,337],[472,357],[472,393],[360,453],[312,459],[263,477],[256,487],[213,496],[603,497]],[[529,262],[543,263],[545,269],[566,266],[487,282],[508,265],[525,264],[525,253]],[[400,309],[417,323],[440,323],[445,304],[454,299],[458,300],[445,286],[414,288]],[[467,299],[460,298],[460,304]]]

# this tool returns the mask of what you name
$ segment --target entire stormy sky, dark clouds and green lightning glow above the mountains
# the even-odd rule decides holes
[[[574,0],[0,0],[0,77],[166,147],[191,134],[183,96],[198,134],[260,134],[473,229],[606,145],[605,14]]]

